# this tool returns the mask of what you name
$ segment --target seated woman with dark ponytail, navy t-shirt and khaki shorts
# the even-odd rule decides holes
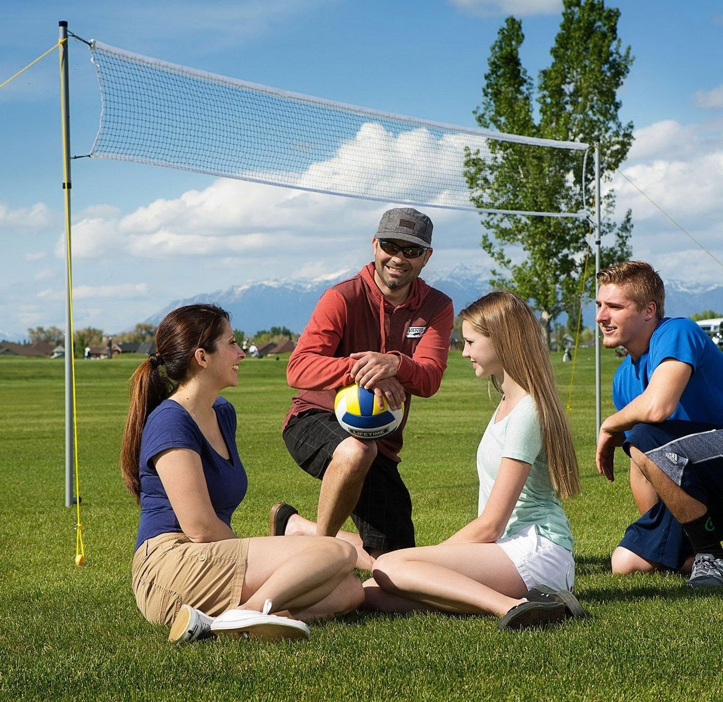
[[[126,486],[140,503],[133,589],[143,615],[171,625],[170,640],[192,641],[306,638],[304,622],[351,612],[363,599],[352,546],[239,538],[231,529],[247,475],[234,407],[218,396],[238,384],[244,358],[228,313],[178,308],[155,344],[131,379],[121,451]]]

